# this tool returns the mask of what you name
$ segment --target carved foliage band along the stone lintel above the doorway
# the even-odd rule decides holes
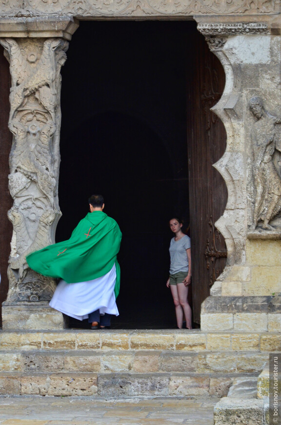
[[[1,16],[193,16],[270,14],[281,0],[0,0]]]

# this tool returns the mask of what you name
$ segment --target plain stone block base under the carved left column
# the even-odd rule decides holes
[[[56,330],[67,326],[68,318],[47,302],[2,304],[3,330]]]

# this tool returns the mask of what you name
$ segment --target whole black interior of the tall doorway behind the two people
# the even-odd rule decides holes
[[[123,233],[112,328],[176,326],[168,221],[181,215],[189,224],[191,35],[201,37],[193,21],[81,21],[61,72],[56,241],[88,212],[88,196],[102,193]]]

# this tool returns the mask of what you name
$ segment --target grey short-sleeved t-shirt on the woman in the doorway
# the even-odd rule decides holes
[[[186,250],[190,248],[190,237],[184,235],[180,240],[175,241],[173,237],[170,243],[170,274],[179,273],[179,271],[188,272],[188,259]]]

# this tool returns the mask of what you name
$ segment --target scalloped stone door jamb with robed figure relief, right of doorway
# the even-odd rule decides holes
[[[196,17],[226,75],[212,111],[227,133],[214,167],[228,190],[216,222],[227,266],[202,304],[201,327],[274,331],[281,323],[281,25],[279,17],[239,19]]]

